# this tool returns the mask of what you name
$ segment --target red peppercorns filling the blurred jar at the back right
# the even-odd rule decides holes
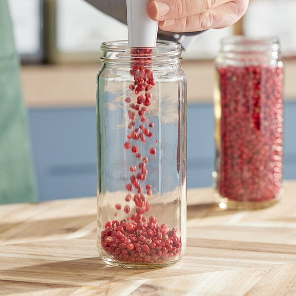
[[[218,191],[244,202],[276,198],[283,173],[283,68],[227,66],[218,74]]]

